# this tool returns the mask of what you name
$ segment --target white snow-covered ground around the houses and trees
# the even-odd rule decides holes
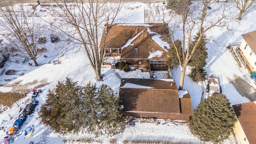
[[[125,5],[122,12],[120,13],[120,21],[118,23],[144,23],[144,9],[152,11],[150,14],[149,22],[160,22],[159,17],[161,15],[161,10],[164,5],[162,3],[140,3],[140,2],[130,2]],[[32,6],[31,6],[32,7]],[[154,9],[152,9],[154,7]],[[158,8],[158,9],[157,9]],[[234,8],[233,8],[234,9]],[[156,12],[155,12],[156,10]],[[158,11],[159,10],[159,11]],[[42,7],[39,5],[36,8],[35,13],[38,16],[42,16],[44,19],[51,20],[54,22],[54,18],[48,12],[47,7]],[[236,10],[233,10],[236,12]],[[49,15],[48,15],[49,14]],[[241,34],[256,30],[254,24],[256,19],[254,18],[256,12],[248,11],[242,17],[242,20],[230,20],[230,30],[228,31],[223,28],[214,28],[207,33],[207,37],[210,39],[208,42],[208,59],[206,70],[209,75],[214,74],[221,77],[221,87],[222,93],[226,94],[231,104],[240,104],[244,102],[249,102],[250,100],[244,96],[241,96],[233,84],[229,80],[235,80],[234,75],[239,76],[244,81],[248,82],[251,86],[256,88],[255,82],[250,78],[250,74],[244,68],[239,68],[236,61],[232,57],[232,54],[228,51],[226,46],[230,42],[241,42]],[[212,14],[214,15],[214,13]],[[125,18],[125,19],[124,19]],[[210,142],[202,142],[196,136],[194,136],[186,123],[178,122],[168,122],[167,124],[160,124],[156,126],[155,124],[149,123],[139,123],[136,122],[134,127],[127,126],[123,134],[118,134],[112,138],[106,136],[100,136],[95,138],[90,134],[66,134],[60,135],[54,133],[49,127],[41,124],[41,120],[38,118],[38,110],[40,106],[46,100],[48,90],[54,88],[58,80],[64,80],[66,77],[71,78],[74,81],[78,81],[79,85],[86,85],[88,82],[96,83],[97,86],[101,84],[107,84],[115,92],[119,92],[120,78],[149,78],[150,74],[148,72],[141,72],[140,70],[135,70],[132,72],[123,72],[116,69],[111,69],[108,66],[102,68],[102,74],[104,74],[103,81],[97,82],[93,69],[90,66],[89,61],[84,56],[84,51],[79,45],[68,45],[64,41],[58,43],[50,42],[50,34],[54,32],[50,26],[47,26],[42,20],[38,19],[44,28],[49,28],[50,30],[45,30],[42,36],[47,37],[45,47],[47,52],[41,52],[37,58],[40,66],[34,67],[29,66],[28,62],[22,64],[23,58],[18,56],[10,57],[10,61],[6,62],[4,68],[0,75],[0,91],[9,92],[15,89],[22,88],[22,86],[32,82],[32,85],[27,88],[33,88],[39,84],[46,84],[42,87],[43,93],[40,94],[38,98],[39,105],[36,106],[36,110],[32,116],[28,117],[23,127],[34,125],[34,134],[28,138],[24,138],[21,135],[14,139],[14,144],[28,144],[33,141],[34,144],[81,144],[81,143],[104,143],[108,144],[110,141],[116,141],[118,144],[125,142],[170,142],[170,143],[204,143],[210,144]],[[61,26],[61,24],[60,24]],[[66,28],[67,31],[69,30]],[[7,34],[8,32],[2,31],[2,33]],[[3,36],[0,36],[4,39]],[[63,38],[60,38],[63,40]],[[214,42],[213,42],[214,40]],[[218,42],[216,44],[215,42]],[[62,55],[63,54],[63,55]],[[44,57],[47,56],[47,58]],[[51,60],[56,60],[59,58],[61,64],[48,64]],[[7,70],[17,70],[14,75],[5,75]],[[188,69],[189,71],[189,69]],[[22,74],[23,73],[23,74]],[[177,85],[180,80],[180,68],[172,69],[172,78],[175,79]],[[33,83],[34,82],[34,83]],[[18,86],[11,86],[18,84]],[[190,80],[186,75],[184,80],[184,90],[188,90],[190,96],[192,97],[193,109],[199,104],[202,96],[202,88],[200,83],[195,83]],[[28,94],[25,98],[22,98],[17,103],[24,107],[24,100],[30,98],[32,93]],[[0,126],[10,127],[14,123],[14,118],[20,114],[19,108],[16,104],[5,112],[0,114]],[[13,119],[10,120],[10,114]],[[6,136],[5,132],[0,130],[0,140]],[[79,140],[83,140],[83,142]],[[65,142],[63,140],[66,140]],[[224,144],[235,144],[236,140],[234,137],[230,137],[228,140],[224,141]]]

